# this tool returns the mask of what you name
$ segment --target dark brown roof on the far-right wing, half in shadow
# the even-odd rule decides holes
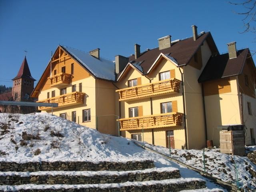
[[[198,78],[198,82],[241,74],[248,53],[250,51],[246,48],[238,50],[236,58],[229,59],[228,53],[211,57]]]

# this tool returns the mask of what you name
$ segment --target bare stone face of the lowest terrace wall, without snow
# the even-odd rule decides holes
[[[20,192],[179,192],[182,190],[192,190],[206,188],[205,181],[190,181],[175,184],[154,184],[154,185],[140,185],[140,186],[122,186],[120,188],[71,188],[71,189],[20,189]],[[2,192],[0,190],[0,192]]]

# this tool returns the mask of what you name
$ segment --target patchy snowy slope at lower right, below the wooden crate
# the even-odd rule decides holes
[[[142,144],[142,143],[140,143]],[[157,152],[170,156],[168,148],[162,146],[153,146],[144,143],[145,146]],[[254,147],[251,147],[251,149]],[[205,165],[206,172],[212,176],[219,178],[224,182],[236,181],[235,162],[238,170],[239,185],[244,188],[256,189],[256,178],[253,178],[249,169],[256,172],[256,165],[253,164],[247,157],[236,155],[222,154],[219,149],[205,150]],[[190,165],[194,168],[204,171],[203,150],[177,150],[171,149],[171,157]],[[236,184],[236,183],[234,183]]]

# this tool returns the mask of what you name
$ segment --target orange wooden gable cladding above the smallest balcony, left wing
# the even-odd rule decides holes
[[[52,77],[54,76],[55,70],[56,74],[61,73],[62,67],[65,67],[66,74],[71,74],[71,64],[74,64],[74,74],[71,76],[70,83],[90,77],[89,72],[83,66],[81,66],[81,64],[78,64],[73,58],[66,54],[66,52],[64,52],[61,48],[58,48],[52,57]],[[45,73],[46,75],[43,74],[43,78],[41,80],[43,82],[40,87],[42,88],[42,91],[51,88],[51,80],[49,78],[50,66],[47,67]]]

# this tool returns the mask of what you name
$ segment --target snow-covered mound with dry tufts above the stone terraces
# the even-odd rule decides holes
[[[0,161],[40,162],[40,161],[114,161],[154,160],[156,168],[178,168],[182,178],[206,180],[209,189],[221,188],[180,164],[136,146],[130,139],[101,134],[63,118],[47,113],[0,114]],[[4,124],[10,124],[9,129]],[[2,126],[2,128],[1,128]],[[38,139],[24,141],[26,132],[39,136]],[[52,133],[52,136],[51,136]],[[63,137],[59,137],[62,134]],[[58,136],[54,136],[58,135]],[[15,144],[16,143],[16,144]],[[21,144],[26,145],[21,146]],[[37,149],[41,153],[35,155]],[[163,148],[164,149],[164,148]]]

